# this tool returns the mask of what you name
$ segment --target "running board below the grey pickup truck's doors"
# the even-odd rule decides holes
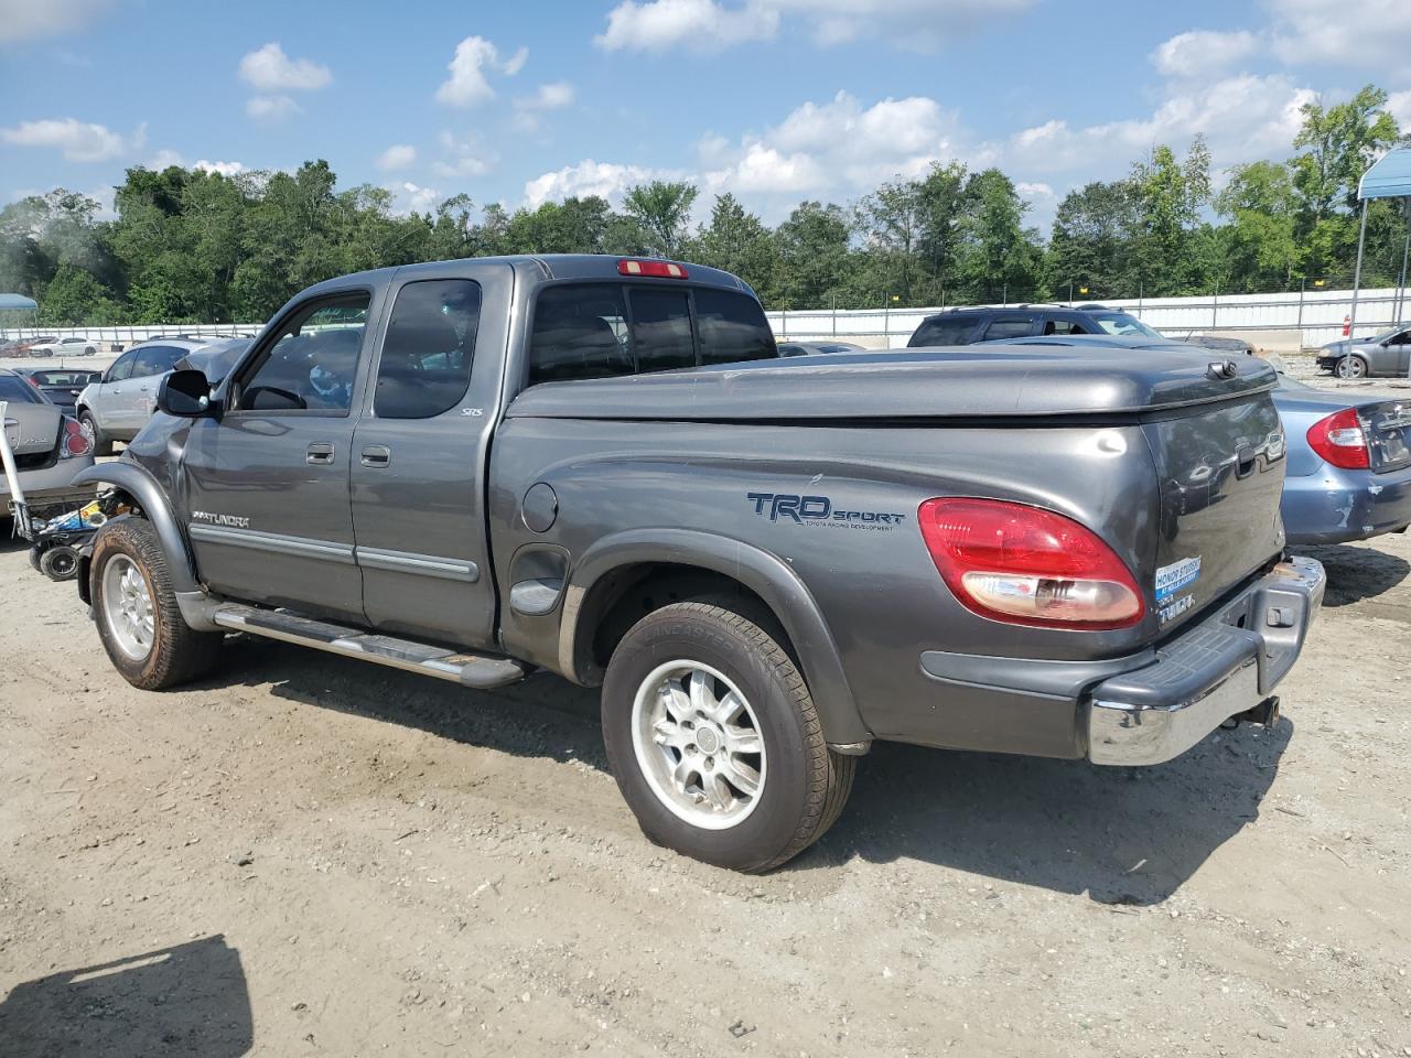
[[[343,657],[358,657],[392,669],[405,669],[422,676],[435,676],[464,687],[488,690],[525,679],[531,669],[512,657],[483,657],[429,646],[412,639],[363,632],[356,628],[332,625],[326,621],[288,614],[282,609],[260,609],[226,602],[214,609],[210,619],[231,632],[248,632],[265,639],[312,646]]]

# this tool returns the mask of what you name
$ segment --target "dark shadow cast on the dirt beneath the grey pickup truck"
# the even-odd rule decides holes
[[[210,686],[272,683],[281,698],[607,769],[597,691],[555,676],[474,693],[248,638],[227,652]],[[1292,729],[1284,719],[1273,732],[1221,731],[1146,769],[879,743],[858,762],[840,822],[783,872],[916,859],[1103,903],[1160,903],[1257,818]]]

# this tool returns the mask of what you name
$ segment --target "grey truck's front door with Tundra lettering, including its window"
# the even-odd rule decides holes
[[[293,306],[226,384],[220,418],[192,425],[186,515],[212,591],[363,624],[349,454],[375,300],[351,289]]]

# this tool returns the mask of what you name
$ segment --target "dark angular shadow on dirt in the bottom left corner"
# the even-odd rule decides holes
[[[6,1058],[237,1058],[253,1047],[246,975],[223,935],[27,980],[0,1003]]]

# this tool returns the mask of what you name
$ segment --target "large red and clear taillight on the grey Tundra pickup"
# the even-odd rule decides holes
[[[1024,504],[927,499],[921,537],[968,609],[1012,625],[1129,628],[1146,614],[1132,571],[1092,530]]]

